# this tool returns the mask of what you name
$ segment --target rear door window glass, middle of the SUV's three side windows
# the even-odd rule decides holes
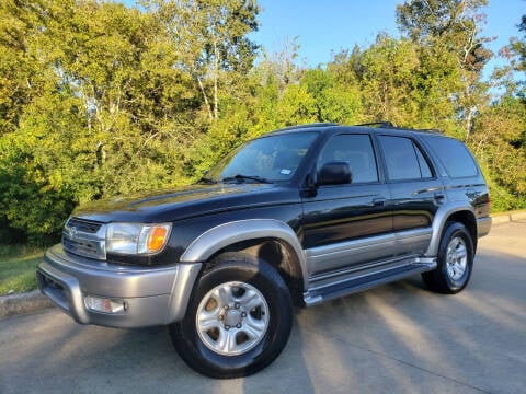
[[[432,177],[427,161],[414,142],[404,137],[380,136],[390,181]]]

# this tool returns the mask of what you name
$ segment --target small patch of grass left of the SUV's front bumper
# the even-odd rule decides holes
[[[0,245],[0,296],[36,289],[35,268],[45,248]]]

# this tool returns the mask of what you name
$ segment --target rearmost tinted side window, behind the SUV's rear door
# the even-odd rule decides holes
[[[450,177],[477,176],[478,170],[466,146],[453,138],[424,137]]]

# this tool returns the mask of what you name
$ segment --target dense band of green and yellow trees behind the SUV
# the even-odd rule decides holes
[[[525,102],[506,74],[524,71],[524,37],[490,103],[484,0],[407,1],[402,38],[313,69],[296,38],[253,65],[254,0],[139,3],[0,3],[0,243],[57,240],[79,204],[194,182],[249,138],[311,121],[443,129],[476,152],[494,209],[526,205]]]

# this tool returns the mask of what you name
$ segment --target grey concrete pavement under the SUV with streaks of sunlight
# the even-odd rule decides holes
[[[165,328],[80,326],[56,309],[0,320],[0,393],[526,393],[526,220],[480,240],[457,296],[420,277],[298,310],[264,371],[190,370]]]

